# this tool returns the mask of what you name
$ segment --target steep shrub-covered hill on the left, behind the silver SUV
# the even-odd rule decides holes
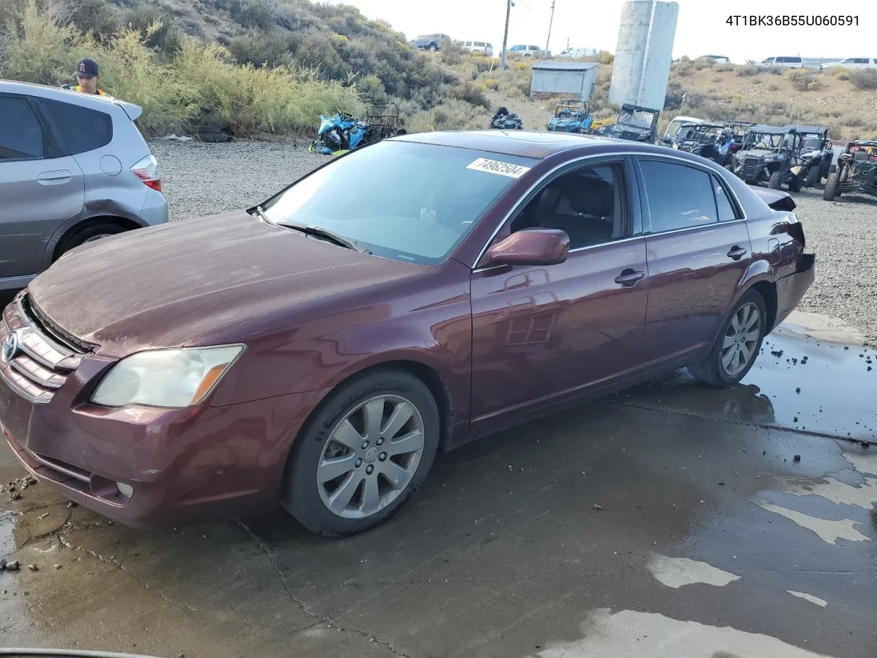
[[[243,135],[310,131],[320,111],[369,101],[395,101],[406,117],[442,108],[443,127],[455,127],[489,107],[472,83],[349,6],[0,0],[0,25],[0,76],[70,82],[76,59],[92,56],[103,88],[143,105],[153,134],[192,121]]]

